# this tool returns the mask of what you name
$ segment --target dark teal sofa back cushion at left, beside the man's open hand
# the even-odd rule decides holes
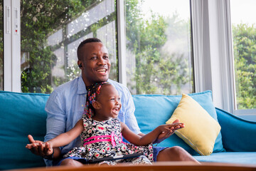
[[[0,170],[45,166],[42,157],[28,149],[28,134],[35,140],[46,135],[44,107],[49,95],[0,91]]]

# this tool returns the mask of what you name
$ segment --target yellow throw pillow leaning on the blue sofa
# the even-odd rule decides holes
[[[178,107],[166,124],[173,123],[176,119],[185,124],[185,128],[175,131],[179,138],[200,155],[210,155],[213,152],[220,125],[196,100],[182,94]]]

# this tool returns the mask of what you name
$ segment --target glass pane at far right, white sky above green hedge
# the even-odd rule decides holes
[[[236,109],[256,108],[256,1],[230,1]]]

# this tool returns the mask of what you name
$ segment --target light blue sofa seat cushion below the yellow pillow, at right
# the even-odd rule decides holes
[[[193,156],[199,162],[227,162],[256,165],[256,152],[216,152],[207,156]]]

